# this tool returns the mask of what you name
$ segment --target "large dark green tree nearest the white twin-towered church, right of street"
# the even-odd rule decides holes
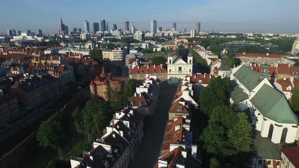
[[[199,97],[200,109],[203,113],[211,115],[213,109],[219,105],[229,105],[231,94],[231,80],[228,77],[215,77],[204,88]]]

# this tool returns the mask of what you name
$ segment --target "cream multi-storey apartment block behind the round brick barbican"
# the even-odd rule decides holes
[[[127,50],[124,48],[116,48],[114,50],[102,50],[103,59],[107,59],[110,61],[123,61],[125,59],[125,55],[127,54]]]

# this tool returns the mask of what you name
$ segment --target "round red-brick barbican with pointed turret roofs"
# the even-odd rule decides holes
[[[105,73],[104,67],[101,74],[96,75],[94,80],[91,80],[89,88],[94,97],[100,97],[108,100],[107,89],[110,87],[113,90],[122,91],[124,87],[124,79],[120,77],[110,77]]]

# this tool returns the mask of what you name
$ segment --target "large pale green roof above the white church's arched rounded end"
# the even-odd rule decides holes
[[[260,88],[250,102],[261,114],[276,122],[294,124],[298,122],[286,98],[267,84]]]

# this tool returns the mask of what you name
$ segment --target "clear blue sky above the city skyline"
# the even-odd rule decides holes
[[[158,27],[202,31],[299,33],[298,0],[2,0],[0,33],[7,29],[58,33],[60,17],[69,31],[105,19],[124,29],[124,20],[138,30],[149,30],[150,21]]]

